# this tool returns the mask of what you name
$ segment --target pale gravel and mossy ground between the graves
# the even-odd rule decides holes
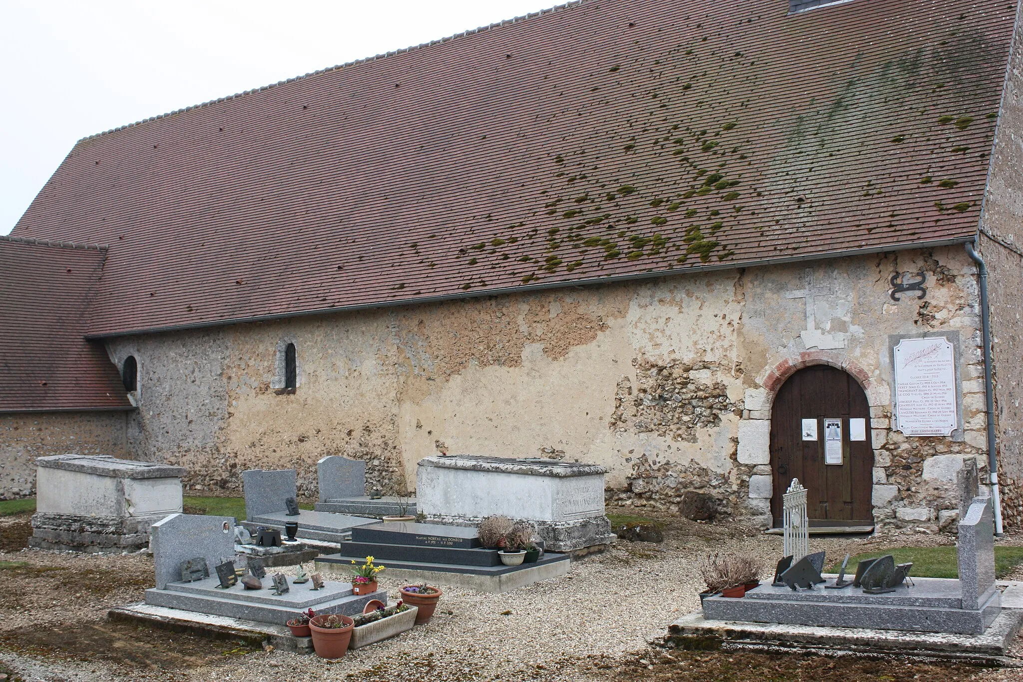
[[[7,522],[0,519],[0,527]],[[1023,544],[1023,536],[1006,542]],[[811,543],[814,549],[827,550],[830,558],[840,558],[846,551],[890,546],[892,540]],[[951,543],[948,537],[920,536],[913,544]],[[664,543],[620,542],[604,554],[573,563],[561,578],[500,595],[444,588],[429,625],[351,651],[339,662],[251,651],[229,642],[105,623],[109,606],[141,599],[151,584],[151,560],[145,554],[6,552],[0,553],[0,560],[28,565],[0,572],[0,661],[25,680],[53,682],[1023,679],[1017,671],[904,662],[724,652],[665,656],[647,648],[651,635],[699,607],[697,594],[703,585],[697,564],[704,553],[737,550],[759,555],[769,578],[768,566],[772,570],[781,545],[777,536],[676,518]],[[383,576],[382,588],[396,597],[398,583],[389,581],[386,572]],[[1018,655],[1023,662],[1023,646]]]

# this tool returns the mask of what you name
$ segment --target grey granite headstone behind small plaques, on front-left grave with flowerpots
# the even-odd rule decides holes
[[[181,580],[181,562],[196,557],[207,565],[234,558],[234,518],[171,514],[152,525],[152,563],[157,589]]]

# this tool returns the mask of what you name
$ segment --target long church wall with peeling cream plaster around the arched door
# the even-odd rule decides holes
[[[889,298],[893,273],[921,271],[923,301]],[[924,462],[983,450],[974,274],[955,246],[108,346],[119,364],[133,355],[139,365],[131,447],[188,468],[192,490],[236,493],[244,468],[296,467],[300,492],[313,496],[315,462],[328,454],[366,460],[370,486],[385,490],[404,472],[413,486],[415,462],[437,452],[545,456],[608,466],[622,504],[677,509],[697,490],[757,525],[768,521],[773,393],[787,372],[827,362],[871,399],[879,519],[937,530],[957,504],[942,479],[925,484]],[[793,292],[811,282],[826,293],[808,311]],[[891,336],[925,331],[959,339],[966,430],[954,439],[889,433]],[[294,394],[275,388],[282,343],[297,347]]]

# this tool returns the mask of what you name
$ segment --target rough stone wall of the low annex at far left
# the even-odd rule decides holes
[[[0,414],[0,500],[35,494],[36,457],[128,457],[126,412]]]

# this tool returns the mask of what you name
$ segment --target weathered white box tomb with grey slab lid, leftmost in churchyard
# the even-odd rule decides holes
[[[87,552],[143,549],[149,528],[182,509],[180,466],[106,455],[36,460],[36,513],[29,544]]]

